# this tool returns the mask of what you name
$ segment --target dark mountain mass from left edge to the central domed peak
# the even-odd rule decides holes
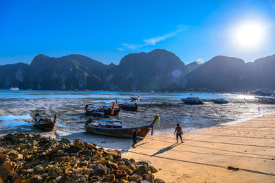
[[[53,58],[39,55],[31,64],[0,66],[0,88],[37,90],[101,89],[107,65],[86,56]]]

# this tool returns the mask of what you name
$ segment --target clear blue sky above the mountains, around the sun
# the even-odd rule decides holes
[[[252,48],[234,40],[233,29],[248,22],[264,29]],[[0,1],[0,64],[30,63],[39,53],[118,64],[128,53],[157,48],[185,64],[272,55],[275,1]]]

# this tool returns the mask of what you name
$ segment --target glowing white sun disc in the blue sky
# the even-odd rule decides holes
[[[259,47],[263,40],[263,27],[259,23],[245,23],[236,27],[234,37],[236,44],[242,47]]]

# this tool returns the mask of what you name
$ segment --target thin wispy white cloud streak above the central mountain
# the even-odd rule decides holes
[[[144,44],[128,44],[128,43],[123,43],[121,44],[122,46],[126,47],[126,49],[131,49],[131,50],[136,50],[142,47],[146,47],[148,45],[156,45],[157,42],[160,42],[162,40],[166,40],[167,38],[171,38],[175,36],[177,33],[181,32],[182,29],[186,28],[186,26],[179,26],[179,28],[174,31],[170,32],[168,34],[165,34],[164,36],[156,36],[154,38],[148,38],[144,39],[143,41],[145,42]],[[124,49],[118,48],[119,51],[123,51]]]

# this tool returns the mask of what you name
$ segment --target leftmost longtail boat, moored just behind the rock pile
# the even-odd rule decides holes
[[[56,127],[56,114],[54,119],[46,115],[45,110],[34,110],[34,117],[32,120],[32,125],[34,127],[39,127],[41,130],[52,131]]]

